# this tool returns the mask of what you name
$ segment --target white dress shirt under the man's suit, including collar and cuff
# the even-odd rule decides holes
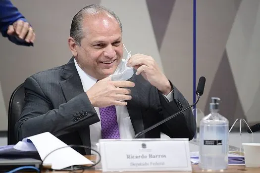
[[[89,90],[98,80],[89,76],[85,73],[78,65],[77,61],[74,59],[75,66],[77,68],[84,92]],[[168,101],[172,101],[172,91],[166,96]],[[117,116],[117,123],[119,127],[119,133],[121,139],[133,138],[135,136],[135,131],[133,125],[131,123],[128,110],[126,106],[115,106],[116,109],[116,116]],[[95,110],[100,118],[100,108],[95,107]],[[97,143],[99,139],[102,138],[101,135],[101,123],[95,123],[89,126],[90,128],[90,141],[91,141],[91,148],[97,149]]]

